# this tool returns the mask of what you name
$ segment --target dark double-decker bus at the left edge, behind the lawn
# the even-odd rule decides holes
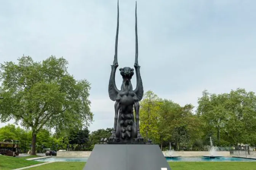
[[[3,140],[0,141],[0,154],[6,156],[19,156],[19,141],[18,140]]]

